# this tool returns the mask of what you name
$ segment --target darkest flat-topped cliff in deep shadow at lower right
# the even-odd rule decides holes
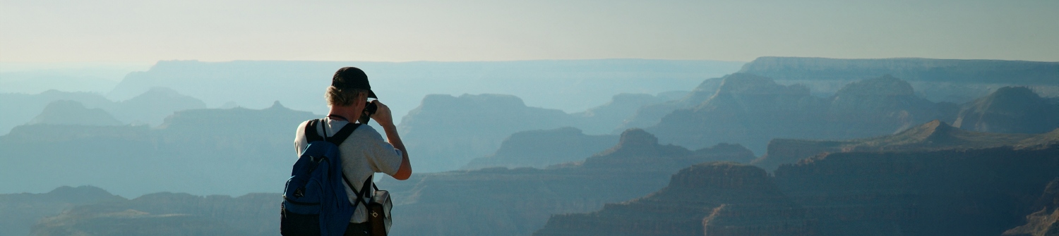
[[[783,193],[821,235],[999,235],[1059,175],[1059,146],[839,152],[784,165]]]

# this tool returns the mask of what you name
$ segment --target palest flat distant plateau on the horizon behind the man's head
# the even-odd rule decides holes
[[[126,99],[151,87],[167,87],[202,99],[208,107],[234,102],[244,107],[264,108],[279,99],[297,110],[323,113],[327,107],[321,96],[331,75],[342,67],[358,67],[370,76],[373,91],[393,109],[395,120],[415,108],[427,94],[513,94],[532,106],[576,112],[604,104],[622,92],[654,94],[683,90],[702,78],[737,71],[743,63],[661,59],[163,60],[147,71],[129,73],[107,97]]]

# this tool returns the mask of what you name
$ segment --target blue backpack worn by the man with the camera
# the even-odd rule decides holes
[[[305,139],[309,145],[294,163],[283,190],[281,235],[343,235],[357,208],[349,202],[343,187],[343,183],[349,183],[348,180],[342,181],[345,177],[342,175],[338,146],[360,124],[351,123],[327,138],[317,134],[320,123],[321,120],[311,120],[305,126]],[[370,184],[366,181],[363,186]],[[353,185],[349,188],[357,189]]]

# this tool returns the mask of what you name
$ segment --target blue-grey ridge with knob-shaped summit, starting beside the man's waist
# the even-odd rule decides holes
[[[401,217],[392,235],[530,235],[553,214],[595,211],[658,190],[680,168],[752,159],[738,145],[692,151],[660,145],[650,133],[633,129],[584,162],[416,174],[407,181],[385,178],[378,185],[397,196],[394,215]]]

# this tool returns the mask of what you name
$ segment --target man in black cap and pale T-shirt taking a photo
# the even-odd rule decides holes
[[[323,119],[317,128],[317,133],[321,135],[335,135],[339,129],[360,120],[364,113],[367,98],[378,98],[372,92],[372,86],[367,83],[367,75],[357,68],[347,67],[339,69],[331,78],[331,86],[327,88],[324,97],[330,111],[327,117]],[[397,135],[397,127],[394,126],[390,108],[378,99],[372,101],[377,107],[371,115],[382,130],[387,133],[387,140],[382,140],[378,131],[361,124],[349,134],[341,145],[339,153],[342,158],[342,173],[352,181],[357,189],[372,187],[363,186],[363,181],[375,173],[384,173],[397,180],[407,180],[412,175],[412,165],[408,162],[408,151],[400,137]],[[366,121],[366,120],[365,120]],[[308,142],[305,138],[305,126],[308,121],[298,126],[294,137],[294,149],[298,153],[306,148]],[[349,196],[349,202],[356,202],[357,193],[348,186],[345,193]],[[367,193],[374,193],[369,190]],[[357,207],[349,219],[345,235],[367,235],[369,225],[366,207],[361,204]]]

